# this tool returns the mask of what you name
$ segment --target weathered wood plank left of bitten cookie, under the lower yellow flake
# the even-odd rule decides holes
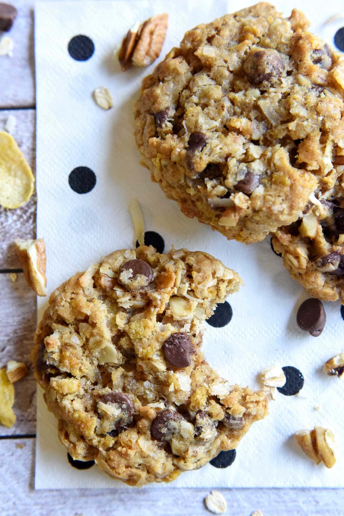
[[[30,365],[30,349],[36,330],[36,295],[27,286],[24,275],[13,283],[9,274],[0,274],[0,367],[9,360]],[[17,423],[12,428],[0,426],[0,436],[36,432],[36,382],[30,372],[14,384],[13,410]]]

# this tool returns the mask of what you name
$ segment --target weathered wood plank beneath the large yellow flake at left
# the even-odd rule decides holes
[[[0,131],[3,130],[9,114],[17,118],[13,136],[35,174],[36,111],[34,109],[0,110]],[[16,238],[35,238],[35,234],[36,193],[21,208],[4,209],[0,206],[0,270],[20,266],[14,252],[13,241]]]

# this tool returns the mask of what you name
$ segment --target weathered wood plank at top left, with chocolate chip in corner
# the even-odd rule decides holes
[[[35,107],[34,3],[14,4],[18,17],[6,33],[14,43],[13,56],[0,56],[0,108]]]

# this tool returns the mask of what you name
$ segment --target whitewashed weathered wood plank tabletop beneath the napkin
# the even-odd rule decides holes
[[[12,1],[19,16],[9,33],[15,45],[13,57],[0,57],[0,130],[10,113],[17,118],[15,138],[35,171],[34,6],[32,0]],[[0,367],[10,359],[29,364],[36,299],[18,269],[13,240],[32,238],[35,233],[34,196],[19,209],[0,207]],[[9,272],[18,272],[16,283]],[[17,423],[10,429],[0,426],[1,515],[209,514],[203,499],[211,486],[209,490],[171,487],[163,492],[154,488],[35,491],[36,384],[32,374],[15,384],[14,411]],[[231,516],[250,516],[257,509],[264,516],[344,515],[344,490],[340,489],[220,491]]]

